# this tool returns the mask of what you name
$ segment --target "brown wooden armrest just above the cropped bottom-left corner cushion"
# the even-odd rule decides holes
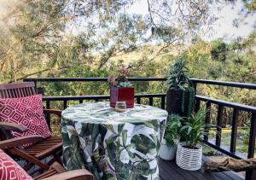
[[[32,136],[20,136],[11,138],[8,140],[4,140],[0,142],[0,148],[15,148],[17,146],[21,146],[27,143],[41,142],[45,138],[43,136],[32,135]]]

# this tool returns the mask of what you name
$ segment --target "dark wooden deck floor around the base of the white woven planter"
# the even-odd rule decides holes
[[[207,157],[203,157],[204,162],[207,162]],[[181,168],[179,168],[175,161],[166,161],[166,160],[159,160],[160,165],[160,179],[162,180],[183,180],[183,179],[189,179],[189,180],[203,180],[203,179],[224,179],[224,180],[241,180],[244,179],[241,176],[238,176],[235,172],[232,171],[225,171],[225,172],[205,172],[201,168],[201,170],[198,171],[186,171]]]

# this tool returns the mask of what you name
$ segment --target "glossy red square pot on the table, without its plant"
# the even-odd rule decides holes
[[[126,107],[134,106],[134,88],[110,88],[110,107],[115,107],[115,102],[126,102]]]

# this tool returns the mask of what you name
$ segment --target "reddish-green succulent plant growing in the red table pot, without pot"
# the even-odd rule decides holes
[[[119,69],[118,74],[110,75],[108,77],[108,85],[109,87],[131,87],[132,84],[128,81],[127,76],[129,74],[129,70],[122,67]]]

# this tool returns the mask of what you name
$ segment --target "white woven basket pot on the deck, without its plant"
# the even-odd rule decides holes
[[[200,144],[196,145],[195,149],[184,148],[185,142],[177,144],[176,163],[184,170],[196,171],[201,168],[202,147]]]

